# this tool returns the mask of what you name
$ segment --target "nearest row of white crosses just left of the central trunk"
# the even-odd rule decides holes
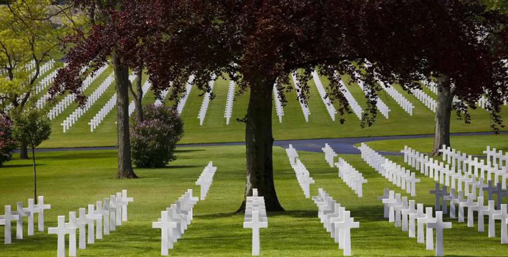
[[[161,211],[161,217],[157,222],[152,222],[152,229],[161,230],[161,255],[167,256],[168,249],[173,249],[176,243],[185,233],[187,226],[193,220],[193,208],[198,203],[198,198],[193,197],[192,189],[188,189],[178,200]]]

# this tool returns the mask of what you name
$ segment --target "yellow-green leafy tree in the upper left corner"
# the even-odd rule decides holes
[[[40,67],[60,55],[61,39],[79,26],[79,14],[51,0],[13,0],[0,6],[0,104],[22,111],[35,99]],[[34,62],[34,68],[26,65]],[[20,145],[20,158],[28,159],[27,146]]]

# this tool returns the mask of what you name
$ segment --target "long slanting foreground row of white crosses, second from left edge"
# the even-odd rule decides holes
[[[48,228],[48,234],[57,235],[57,257],[66,256],[66,234],[69,234],[69,256],[76,256],[76,231],[79,232],[79,249],[86,249],[87,243],[94,244],[95,239],[103,239],[103,235],[109,235],[111,231],[116,231],[116,226],[121,226],[122,222],[127,221],[127,206],[133,201],[134,198],[127,197],[127,190],[122,190],[121,193],[104,198],[95,204],[88,204],[87,213],[85,213],[85,208],[79,208],[79,218],[76,218],[75,211],[70,211],[68,223],[65,222],[65,215],[59,215],[58,226]],[[85,242],[86,226],[88,227],[88,237]]]

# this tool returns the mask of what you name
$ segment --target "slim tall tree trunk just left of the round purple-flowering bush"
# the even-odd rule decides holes
[[[131,139],[129,134],[129,67],[113,52],[111,55],[115,71],[116,132],[118,143],[117,178],[137,178],[131,164]]]

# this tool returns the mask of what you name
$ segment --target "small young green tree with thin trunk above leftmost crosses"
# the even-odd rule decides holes
[[[14,115],[13,134],[19,142],[25,143],[26,146],[32,150],[32,160],[34,163],[34,199],[37,199],[35,148],[39,146],[42,141],[49,139],[49,134],[51,134],[51,121],[46,115],[35,108],[25,109],[25,111]]]

